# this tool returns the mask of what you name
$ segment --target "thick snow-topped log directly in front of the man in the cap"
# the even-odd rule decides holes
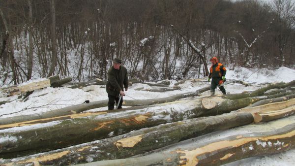
[[[13,132],[10,129],[0,130],[0,136],[6,138],[1,143],[0,155],[3,158],[25,156],[164,123],[219,115],[243,108],[261,99],[255,97],[227,100],[222,96],[215,96],[212,99],[179,100],[145,109],[55,121],[45,123],[44,127],[32,125],[26,129],[24,126],[14,129]]]

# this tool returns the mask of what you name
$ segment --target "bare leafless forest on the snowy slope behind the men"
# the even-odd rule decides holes
[[[225,66],[294,68],[294,0],[0,0],[3,85],[59,74],[107,79],[114,57],[143,81]]]

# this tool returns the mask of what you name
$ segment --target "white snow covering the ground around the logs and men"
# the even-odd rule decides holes
[[[227,71],[226,78],[228,80],[242,80],[246,83],[252,84],[252,86],[247,87],[241,84],[226,85],[225,88],[227,93],[233,94],[259,89],[263,86],[261,83],[274,83],[281,81],[290,82],[295,79],[295,70],[287,67],[280,67],[275,70],[236,67],[235,70]],[[42,79],[43,78],[40,78],[40,80]],[[171,82],[172,84],[170,86],[172,87],[177,81],[173,80]],[[186,81],[185,83],[179,85],[181,87],[180,90],[169,91],[165,93],[144,91],[145,89],[151,89],[152,87],[146,84],[134,84],[129,87],[128,91],[126,92],[127,96],[124,97],[124,100],[164,98],[175,94],[194,92],[200,88],[208,86],[209,84],[210,83],[207,82],[207,78],[204,78],[203,81],[197,82]],[[143,90],[138,91],[136,90],[137,88],[143,88]],[[216,94],[221,94],[221,92],[216,90]],[[205,92],[202,95],[208,96],[209,92]],[[95,85],[84,87],[82,89],[48,87],[42,90],[35,90],[29,96],[28,100],[16,99],[16,97],[0,98],[0,101],[13,100],[9,103],[0,105],[0,118],[45,112],[69,105],[83,103],[85,100],[90,100],[91,102],[107,99],[105,86]],[[103,107],[89,111],[106,109],[107,107]],[[294,166],[295,158],[293,156],[295,156],[295,149],[266,157],[248,158],[227,164],[226,166]]]

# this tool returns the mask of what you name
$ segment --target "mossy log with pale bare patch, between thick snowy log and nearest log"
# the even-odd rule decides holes
[[[122,159],[168,146],[180,140],[252,122],[253,116],[250,113],[230,113],[202,118],[201,120],[179,121],[51,151],[42,155],[32,155],[19,160],[13,159],[13,164],[18,164],[19,166],[33,163],[39,163],[40,165],[74,165],[87,163],[89,156],[91,156],[92,161]],[[97,153],[98,151],[99,153]],[[12,164],[12,161],[7,160],[4,163],[8,166]]]

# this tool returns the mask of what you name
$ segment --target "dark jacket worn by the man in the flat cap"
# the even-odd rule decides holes
[[[124,85],[124,87],[123,87]],[[112,66],[108,71],[107,93],[118,97],[123,88],[128,88],[128,72],[124,66],[120,66],[117,70]]]

